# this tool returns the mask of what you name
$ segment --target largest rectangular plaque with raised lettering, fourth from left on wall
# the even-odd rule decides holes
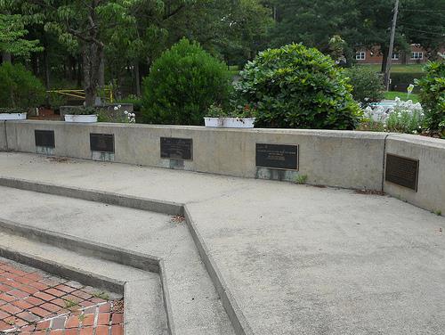
[[[298,170],[298,145],[256,143],[256,167]]]

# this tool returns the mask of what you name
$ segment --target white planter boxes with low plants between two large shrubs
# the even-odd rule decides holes
[[[213,104],[204,118],[206,127],[217,128],[253,128],[255,124],[255,108],[248,104],[237,106],[234,110],[224,110],[220,105]]]

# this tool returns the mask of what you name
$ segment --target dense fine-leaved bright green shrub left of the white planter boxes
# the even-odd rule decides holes
[[[143,80],[142,121],[201,125],[212,103],[226,103],[227,66],[183,38],[163,53]]]

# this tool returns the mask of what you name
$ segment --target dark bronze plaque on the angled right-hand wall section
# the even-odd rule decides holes
[[[387,153],[384,180],[417,192],[418,167],[418,159],[409,159]]]

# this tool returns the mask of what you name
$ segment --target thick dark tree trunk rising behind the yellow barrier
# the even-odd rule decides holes
[[[95,43],[87,43],[84,48],[84,87],[85,106],[94,105],[97,87],[100,80],[101,52],[103,47]]]

